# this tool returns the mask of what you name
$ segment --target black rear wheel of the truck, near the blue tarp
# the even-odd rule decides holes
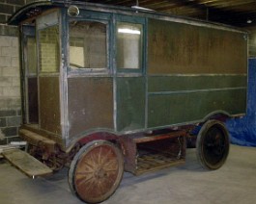
[[[196,140],[199,163],[206,169],[221,167],[229,153],[229,135],[225,126],[217,120],[207,121]]]

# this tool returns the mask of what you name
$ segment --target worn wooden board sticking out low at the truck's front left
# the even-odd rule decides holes
[[[52,173],[52,169],[48,166],[43,165],[36,158],[30,154],[20,150],[11,149],[2,152],[2,155],[20,171],[25,173],[27,176],[35,178],[38,176],[45,176]]]

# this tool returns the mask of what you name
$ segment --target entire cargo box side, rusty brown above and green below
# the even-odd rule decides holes
[[[243,33],[150,18],[147,63],[148,128],[245,113]]]

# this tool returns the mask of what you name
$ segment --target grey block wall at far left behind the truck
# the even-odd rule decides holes
[[[0,144],[18,140],[20,86],[17,29],[5,23],[25,0],[0,1]]]

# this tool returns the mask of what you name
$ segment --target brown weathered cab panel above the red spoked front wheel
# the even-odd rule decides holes
[[[70,139],[93,128],[113,129],[113,80],[78,77],[68,83]]]

